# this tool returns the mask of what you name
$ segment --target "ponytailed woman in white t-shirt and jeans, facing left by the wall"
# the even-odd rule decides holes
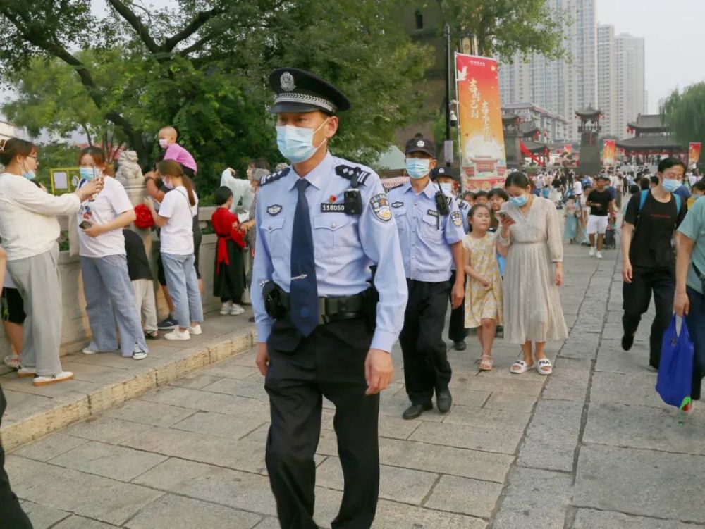
[[[164,337],[167,340],[189,340],[190,335],[202,333],[200,323],[203,321],[193,255],[193,216],[198,211],[198,197],[180,163],[173,160],[159,162],[159,174],[164,178],[164,186],[171,191],[164,195],[159,213],[154,209],[152,197],[147,197],[145,204],[152,212],[154,223],[161,228],[161,262],[178,321],[178,327]]]

